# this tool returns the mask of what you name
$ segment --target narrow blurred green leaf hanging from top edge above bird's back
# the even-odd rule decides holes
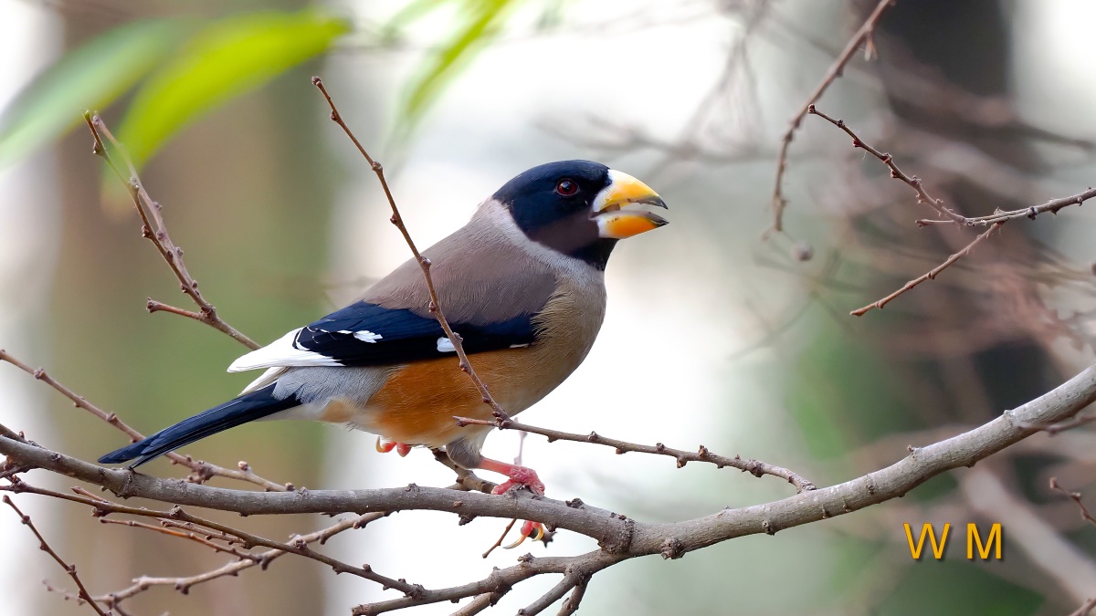
[[[411,81],[397,123],[398,133],[407,135],[414,128],[459,69],[494,37],[505,21],[506,9],[515,3],[515,0],[465,0],[467,21],[448,43],[426,58],[419,76]]]

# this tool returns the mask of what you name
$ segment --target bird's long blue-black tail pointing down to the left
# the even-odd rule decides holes
[[[275,398],[274,385],[267,385],[262,389],[244,393],[239,398],[229,400],[208,411],[203,411],[190,419],[184,419],[171,427],[165,427],[146,437],[144,441],[111,452],[99,458],[99,461],[103,464],[119,464],[137,458],[135,463],[129,465],[129,468],[136,468],[152,458],[162,456],[183,445],[190,445],[195,441],[217,434],[229,427],[236,427],[249,421],[262,419],[300,404],[300,400],[296,396],[290,395],[282,399]]]

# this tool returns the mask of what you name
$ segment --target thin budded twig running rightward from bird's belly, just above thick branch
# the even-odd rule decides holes
[[[640,454],[653,454],[657,456],[669,456],[676,458],[677,468],[682,468],[687,463],[700,461],[710,463],[719,468],[729,466],[731,468],[737,468],[743,472],[749,472],[754,477],[762,477],[764,475],[772,475],[773,477],[779,477],[788,483],[796,487],[797,492],[806,492],[814,489],[814,484],[803,479],[796,472],[788,470],[786,468],[774,466],[760,460],[744,460],[739,456],[729,458],[727,456],[719,456],[712,454],[707,447],[700,445],[696,452],[686,452],[683,449],[674,449],[672,447],[666,447],[662,443],[657,443],[654,445],[639,445],[636,443],[628,443],[627,441],[620,441],[617,438],[609,438],[602,436],[596,432],[591,432],[590,434],[576,434],[573,432],[561,432],[559,430],[551,430],[548,427],[537,427],[535,425],[529,425],[527,423],[518,423],[512,419],[503,421],[484,421],[472,418],[454,417],[457,421],[457,425],[494,425],[500,430],[520,430],[522,432],[528,432],[530,434],[539,434],[541,436],[547,436],[548,442],[552,441],[571,441],[574,443],[594,443],[596,445],[605,445],[607,447],[614,447],[617,455],[624,455],[628,452],[636,452]]]

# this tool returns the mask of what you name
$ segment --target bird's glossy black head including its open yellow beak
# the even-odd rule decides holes
[[[621,212],[629,203],[665,207],[635,178],[589,160],[534,167],[506,182],[493,198],[533,241],[604,270],[617,240],[665,220],[647,212]]]

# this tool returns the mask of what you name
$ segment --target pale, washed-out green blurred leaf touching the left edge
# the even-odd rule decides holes
[[[72,129],[80,110],[114,102],[190,30],[178,20],[130,23],[70,50],[27,85],[0,116],[0,167]]]

